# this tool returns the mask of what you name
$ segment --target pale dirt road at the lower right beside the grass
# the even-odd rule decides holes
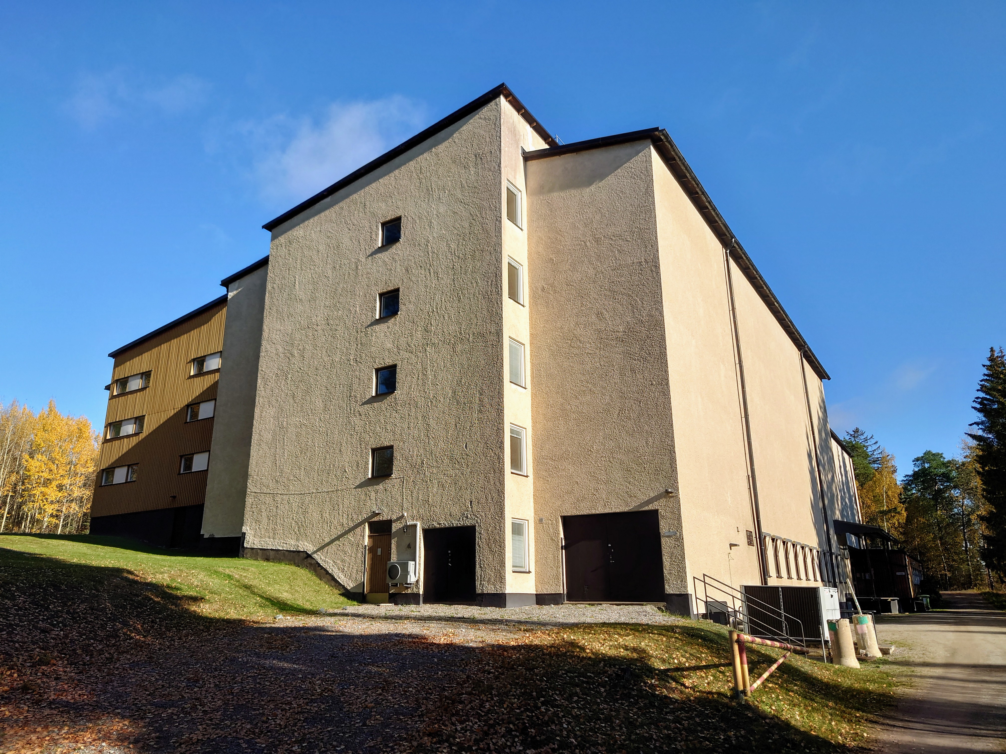
[[[945,610],[881,619],[914,685],[878,736],[881,751],[1006,751],[1006,612],[978,594],[945,592]]]

